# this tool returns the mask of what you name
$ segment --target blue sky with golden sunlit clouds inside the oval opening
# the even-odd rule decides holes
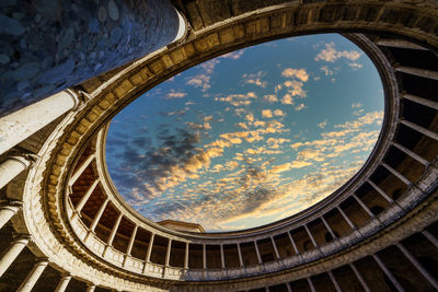
[[[153,221],[254,227],[325,198],[380,132],[376,68],[336,34],[275,40],[206,61],[112,121],[106,157],[120,195]]]

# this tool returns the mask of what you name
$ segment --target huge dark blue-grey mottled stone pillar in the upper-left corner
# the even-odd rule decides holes
[[[7,26],[0,116],[147,56],[186,31],[169,0],[19,3],[0,8]]]

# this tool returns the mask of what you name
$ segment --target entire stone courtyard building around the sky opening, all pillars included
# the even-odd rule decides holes
[[[41,2],[0,7],[0,34],[11,39],[0,55],[11,63],[0,71],[8,90],[0,97],[1,291],[438,290],[436,1],[71,1],[67,12],[60,1]],[[169,23],[139,16],[149,8]],[[72,32],[68,17],[78,9],[95,13],[80,13],[88,25]],[[61,51],[14,42],[54,22]],[[135,43],[139,27],[153,37]],[[324,32],[369,56],[385,96],[377,145],[347,184],[296,215],[228,233],[165,227],[120,199],[104,157],[108,121],[124,106],[219,55]],[[129,49],[140,55],[114,61],[100,47],[114,40],[123,46],[107,48],[124,58]],[[50,54],[37,69],[28,62]],[[71,62],[81,70],[59,69]],[[100,63],[111,65],[101,71]]]

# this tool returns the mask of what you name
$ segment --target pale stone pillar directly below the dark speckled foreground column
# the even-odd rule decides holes
[[[0,155],[78,104],[74,93],[62,91],[0,118]]]

